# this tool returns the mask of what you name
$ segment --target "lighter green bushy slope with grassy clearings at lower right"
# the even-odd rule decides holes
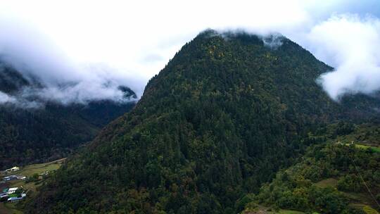
[[[310,134],[307,140],[317,145],[310,146],[299,163],[278,172],[252,200],[241,200],[245,213],[258,209],[254,203],[319,213],[376,213],[374,209],[380,210],[376,203],[380,199],[379,130],[379,125],[339,123]]]

